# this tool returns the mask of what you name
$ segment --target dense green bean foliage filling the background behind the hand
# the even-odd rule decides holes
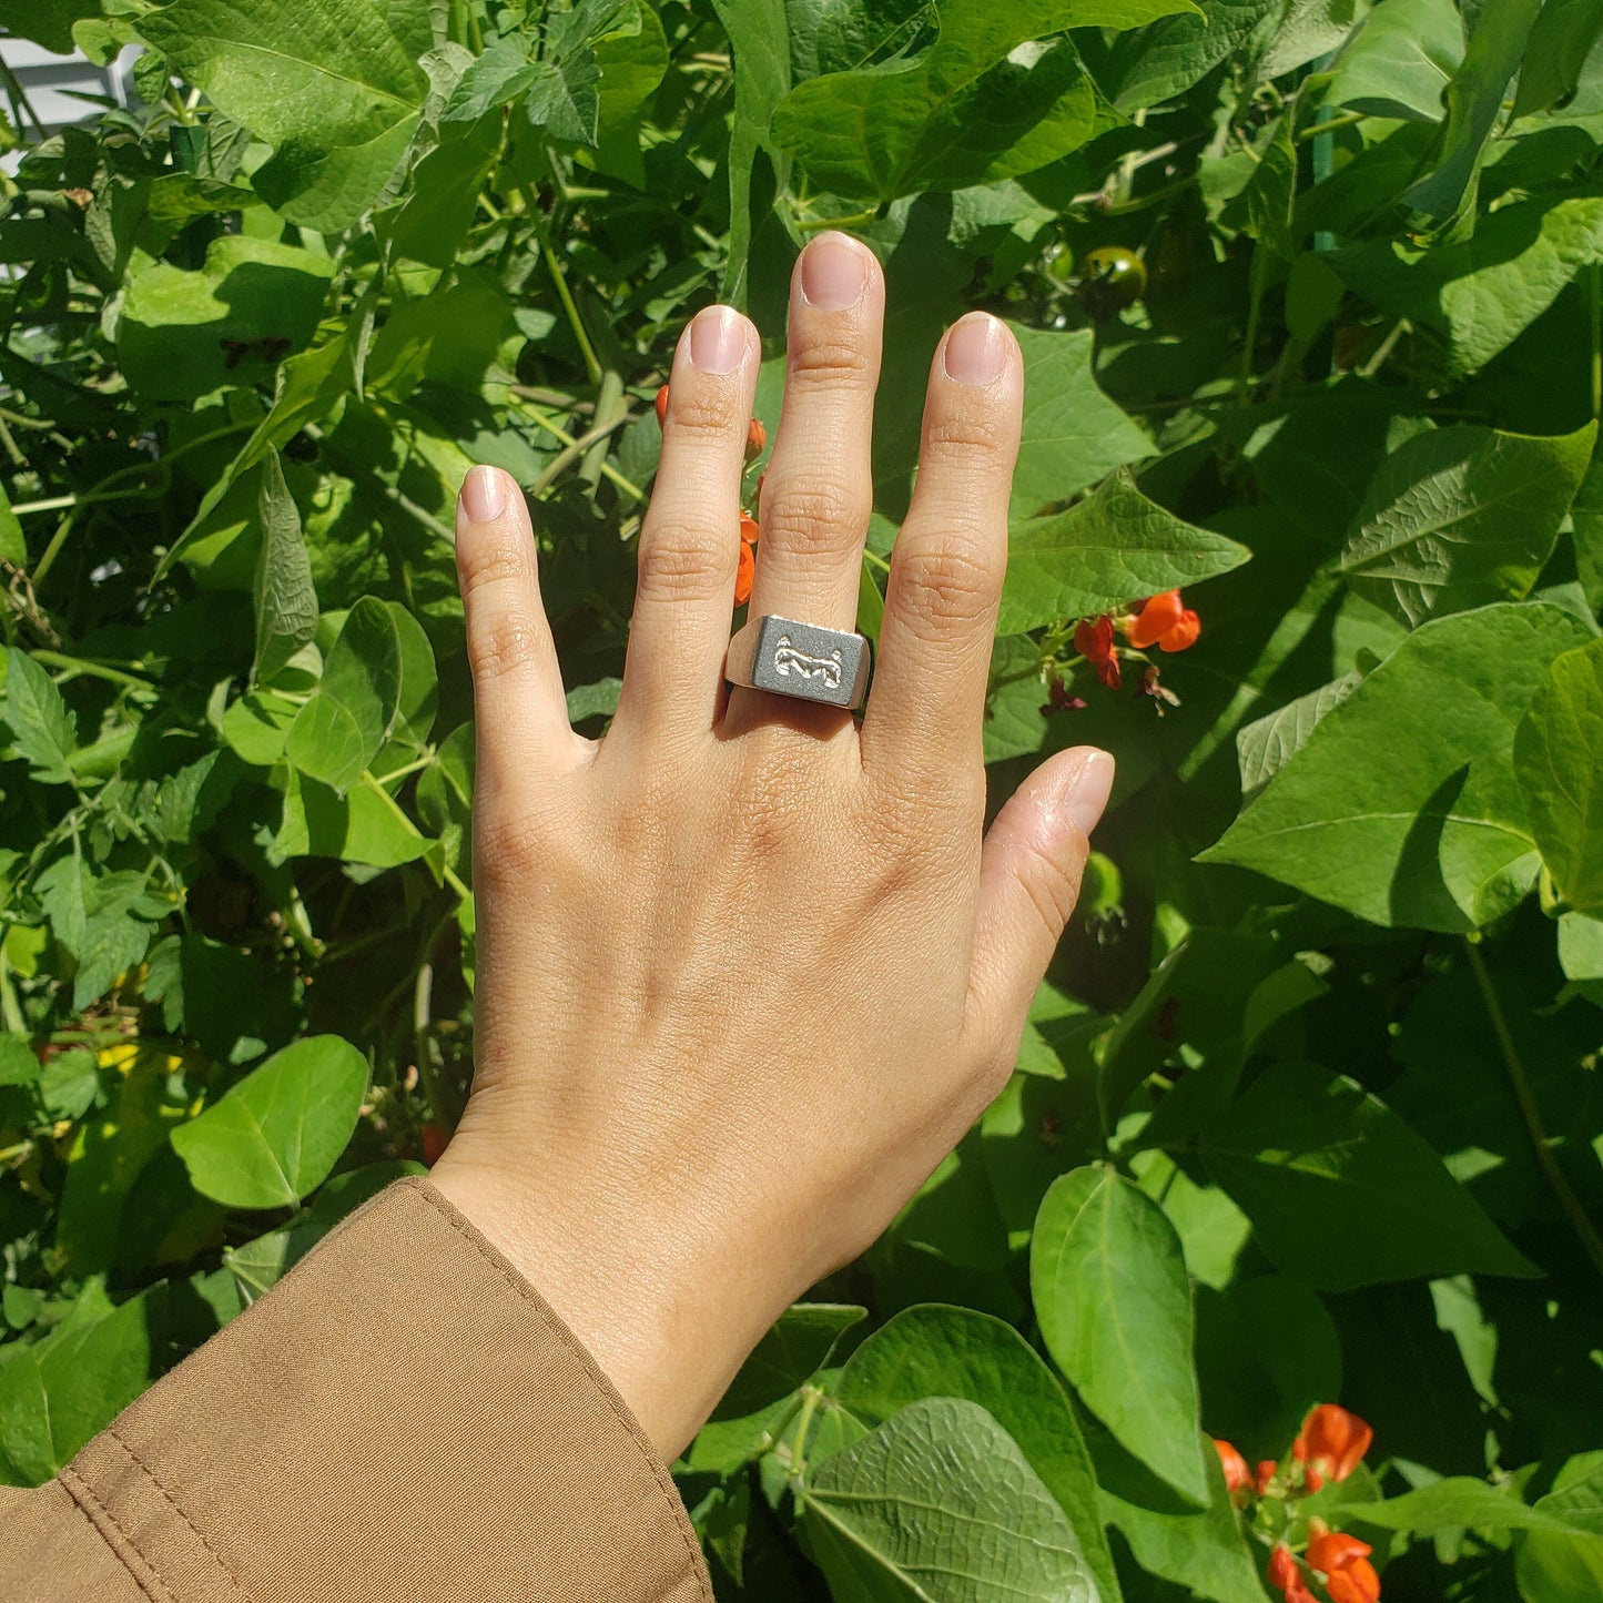
[[[1322,1510],[1393,1595],[1597,1595],[1603,3],[293,10],[0,0],[146,46],[56,136],[3,85],[0,1476],[438,1149],[455,487],[537,502],[601,728],[675,335],[745,305],[771,431],[838,223],[891,298],[861,627],[987,306],[995,792],[1120,777],[1011,1085],[678,1467],[720,1593],[1236,1603]],[[1201,643],[1103,689],[1074,620],[1173,585]],[[1372,1470],[1238,1515],[1201,1431],[1321,1399]]]

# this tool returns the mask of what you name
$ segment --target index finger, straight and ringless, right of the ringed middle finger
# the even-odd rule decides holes
[[[939,784],[983,753],[986,681],[1007,572],[1007,508],[1024,407],[1018,341],[970,313],[941,341],[907,521],[891,551],[862,766]]]

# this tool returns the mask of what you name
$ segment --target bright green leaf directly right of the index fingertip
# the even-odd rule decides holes
[[[1024,430],[1011,503],[1018,519],[1149,457],[1153,442],[1096,388],[1095,337],[1088,329],[1011,329],[1024,354]]]

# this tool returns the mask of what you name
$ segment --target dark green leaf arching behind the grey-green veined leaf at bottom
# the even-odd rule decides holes
[[[931,1396],[978,1403],[1013,1438],[1069,1516],[1103,1603],[1117,1603],[1096,1472],[1074,1407],[1036,1350],[1002,1319],[930,1303],[875,1330],[834,1387],[835,1401],[870,1427]]]

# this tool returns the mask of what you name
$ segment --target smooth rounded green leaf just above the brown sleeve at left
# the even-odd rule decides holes
[[[276,1052],[172,1141],[196,1191],[228,1207],[290,1207],[338,1162],[367,1095],[367,1060],[338,1036]]]

